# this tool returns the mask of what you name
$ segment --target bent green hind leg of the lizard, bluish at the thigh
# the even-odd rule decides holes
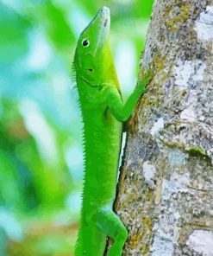
[[[122,247],[128,238],[128,231],[123,226],[122,221],[110,207],[100,208],[96,215],[96,221],[97,227],[114,241],[107,255],[121,256]]]

